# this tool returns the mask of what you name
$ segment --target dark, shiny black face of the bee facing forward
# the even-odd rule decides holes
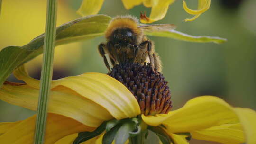
[[[118,43],[133,43],[135,35],[132,30],[129,28],[118,28],[113,31],[112,36],[110,37],[111,41],[115,44]]]

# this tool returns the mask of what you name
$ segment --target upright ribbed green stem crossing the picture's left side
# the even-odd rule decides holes
[[[40,93],[37,107],[37,120],[34,144],[43,144],[46,129],[48,95],[53,75],[53,57],[56,35],[57,1],[47,0],[46,33],[44,39],[43,66],[40,81]]]

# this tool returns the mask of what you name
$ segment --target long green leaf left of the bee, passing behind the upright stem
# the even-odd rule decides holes
[[[56,45],[92,39],[104,35],[112,18],[106,15],[93,15],[65,23],[56,30]],[[8,46],[0,51],[0,86],[18,66],[43,52],[42,34],[24,46]]]

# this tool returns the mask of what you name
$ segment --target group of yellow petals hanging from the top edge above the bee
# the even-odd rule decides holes
[[[145,7],[151,7],[149,17],[147,17],[146,14],[141,14],[140,21],[142,23],[152,23],[163,19],[169,5],[174,3],[174,1],[175,0],[122,0],[126,9],[131,9],[141,3],[143,3]],[[184,10],[189,14],[195,15],[193,18],[184,19],[184,21],[192,21],[198,18],[203,12],[210,8],[210,1],[211,0],[198,0],[198,10],[192,10],[187,7],[185,0],[183,0]],[[100,11],[103,2],[104,0],[83,0],[77,13],[82,16],[95,15]]]

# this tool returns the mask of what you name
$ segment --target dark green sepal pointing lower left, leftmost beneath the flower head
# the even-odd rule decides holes
[[[107,122],[103,122],[97,129],[93,132],[81,132],[78,133],[78,137],[74,140],[73,144],[80,144],[87,141],[95,136],[100,135],[106,129]]]

